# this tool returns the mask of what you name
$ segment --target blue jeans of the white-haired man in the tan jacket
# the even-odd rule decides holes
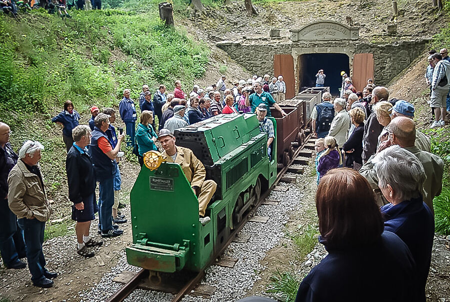
[[[37,219],[20,218],[17,220],[20,229],[23,230],[26,244],[26,258],[28,269],[31,273],[31,281],[44,278],[45,258],[42,253],[42,243],[45,222]]]

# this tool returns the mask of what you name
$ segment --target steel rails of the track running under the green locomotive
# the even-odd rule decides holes
[[[309,134],[305,139],[304,142],[301,144],[301,146],[298,146],[298,148],[295,150],[294,155],[292,156],[292,159],[289,161],[289,163],[283,167],[277,174],[276,179],[273,182],[273,184],[268,188],[264,193],[261,194],[259,197],[258,203],[251,208],[251,210],[245,215],[245,217],[242,218],[242,221],[239,223],[239,225],[231,232],[230,236],[228,237],[227,241],[223,245],[223,247],[217,251],[217,253],[214,254],[214,257],[211,259],[211,261],[206,265],[206,268],[211,266],[215,259],[223,254],[225,249],[229,246],[229,244],[235,239],[236,235],[242,230],[242,228],[245,226],[245,224],[248,222],[248,220],[251,217],[251,214],[253,214],[257,208],[262,204],[262,202],[267,198],[267,196],[270,194],[270,191],[276,186],[276,184],[281,180],[281,177],[286,173],[287,169],[290,165],[292,165],[295,157],[298,156],[298,153],[304,148],[304,145],[308,142],[308,140],[311,138],[311,134]],[[149,276],[149,271],[142,269],[140,270],[136,275],[131,278],[127,283],[125,283],[114,295],[109,297],[107,302],[122,302],[125,300],[126,297],[128,297],[131,292],[137,288],[140,281],[144,278],[147,278]],[[171,302],[179,302],[181,299],[189,293],[195,285],[197,285],[201,279],[204,276],[204,269],[198,272],[190,281],[188,281],[184,287],[175,295],[175,297],[172,299]]]

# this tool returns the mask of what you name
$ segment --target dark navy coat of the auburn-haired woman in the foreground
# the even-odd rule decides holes
[[[407,246],[384,231],[371,246],[329,250],[301,282],[295,302],[417,301],[415,275]]]

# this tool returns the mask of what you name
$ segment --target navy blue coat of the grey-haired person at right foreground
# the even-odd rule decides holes
[[[417,266],[421,301],[425,301],[425,284],[431,263],[434,219],[422,198],[381,207],[384,230],[395,233],[408,246]]]

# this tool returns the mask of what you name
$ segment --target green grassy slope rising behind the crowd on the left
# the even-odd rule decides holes
[[[190,86],[208,62],[205,47],[165,28],[156,11],[70,13],[62,20],[31,11],[19,21],[0,13],[0,121],[11,127],[14,149],[25,139],[43,143],[47,192],[63,212],[69,203],[65,151],[60,127],[50,122],[62,103],[72,100],[86,123],[91,105],[117,105],[124,88],[137,99],[144,83],[170,89],[181,79]]]

